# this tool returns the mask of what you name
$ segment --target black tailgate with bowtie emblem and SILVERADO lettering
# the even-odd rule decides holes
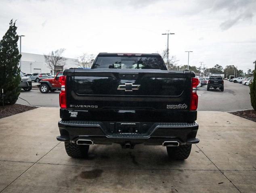
[[[65,70],[68,109],[189,111],[191,71]]]

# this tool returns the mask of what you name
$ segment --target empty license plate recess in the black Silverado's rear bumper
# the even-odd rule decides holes
[[[140,123],[137,122],[117,122],[116,123],[117,133],[141,133]]]

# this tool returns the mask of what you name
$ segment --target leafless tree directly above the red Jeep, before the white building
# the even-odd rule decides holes
[[[51,51],[48,55],[44,54],[46,66],[50,68],[53,73],[57,72],[58,68],[65,66],[67,59],[61,56],[64,51],[65,49],[61,48]]]

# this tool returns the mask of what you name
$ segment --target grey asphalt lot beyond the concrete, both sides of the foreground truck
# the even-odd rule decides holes
[[[33,84],[36,85],[36,83]],[[198,111],[240,111],[252,109],[249,86],[225,80],[224,92],[220,92],[218,89],[207,91],[206,87],[197,88],[199,96]],[[34,106],[59,107],[58,91],[42,94],[39,90],[31,90],[29,92],[21,90],[20,97]],[[29,105],[22,99],[18,99],[17,103]]]

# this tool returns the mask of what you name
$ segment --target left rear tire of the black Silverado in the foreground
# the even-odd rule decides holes
[[[85,158],[88,155],[88,145],[77,145],[70,142],[65,142],[65,150],[67,155],[73,158]]]

